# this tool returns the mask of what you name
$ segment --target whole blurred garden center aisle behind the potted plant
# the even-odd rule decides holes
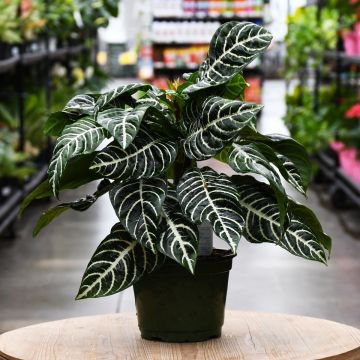
[[[90,256],[116,222],[108,199],[64,214],[37,238],[32,228],[55,201],[34,203],[18,218],[21,201],[46,177],[54,139],[42,127],[77,93],[136,81],[164,88],[196,70],[214,31],[230,20],[274,35],[244,72],[245,100],[265,105],[264,134],[290,134],[311,154],[308,197],[289,192],[318,215],[333,252],[325,267],[242,241],[227,307],[360,327],[359,1],[0,0],[0,333],[134,311],[132,289],[74,300]]]

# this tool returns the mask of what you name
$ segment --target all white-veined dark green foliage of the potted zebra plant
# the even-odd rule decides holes
[[[214,34],[199,71],[168,90],[134,83],[78,95],[50,116],[46,133],[58,139],[49,177],[22,210],[65,189],[93,181],[98,187],[45,212],[34,234],[106,193],[119,218],[90,260],[77,299],[124,290],[166,258],[195,273],[202,223],[233,253],[244,237],[326,263],[330,238],[311,210],[287,196],[281,179],[305,194],[311,175],[306,151],[291,138],[260,134],[261,106],[243,100],[243,69],[271,39],[253,23],[228,22]],[[212,157],[236,175],[197,166]]]

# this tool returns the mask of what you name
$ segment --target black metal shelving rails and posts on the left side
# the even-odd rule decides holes
[[[0,75],[12,76],[15,81],[14,93],[18,99],[19,108],[19,149],[23,150],[26,139],[25,128],[25,114],[24,114],[24,102],[26,97],[26,86],[24,84],[24,76],[29,67],[41,66],[41,83],[45,87],[47,97],[47,108],[50,110],[51,106],[51,74],[50,68],[53,62],[64,62],[66,67],[69,62],[87,53],[89,49],[82,44],[74,46],[64,46],[54,51],[49,51],[46,44],[46,50],[36,53],[21,53],[14,55],[13,57],[5,60],[0,60]],[[69,74],[68,74],[69,76]],[[47,161],[51,152],[51,144],[49,143],[39,156],[39,161],[36,164],[36,172],[29,177],[25,182],[12,182],[6,184],[6,195],[1,196],[0,201],[0,234],[5,230],[9,230],[8,234],[13,236],[13,229],[11,225],[16,219],[19,205],[26,194],[35,188],[46,176]],[[3,193],[4,185],[0,185],[0,191]]]

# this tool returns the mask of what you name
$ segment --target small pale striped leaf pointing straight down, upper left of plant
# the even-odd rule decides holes
[[[147,109],[144,106],[126,110],[108,109],[98,114],[97,122],[109,131],[123,149],[126,149],[139,131],[140,123]]]

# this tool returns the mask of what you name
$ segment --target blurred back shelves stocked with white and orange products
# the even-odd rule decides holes
[[[263,0],[153,0],[153,81],[161,87],[167,79],[174,80],[183,73],[197,70],[219,25],[228,21],[262,25],[263,6]],[[251,100],[261,102],[260,61],[249,66],[245,75],[253,86]]]

